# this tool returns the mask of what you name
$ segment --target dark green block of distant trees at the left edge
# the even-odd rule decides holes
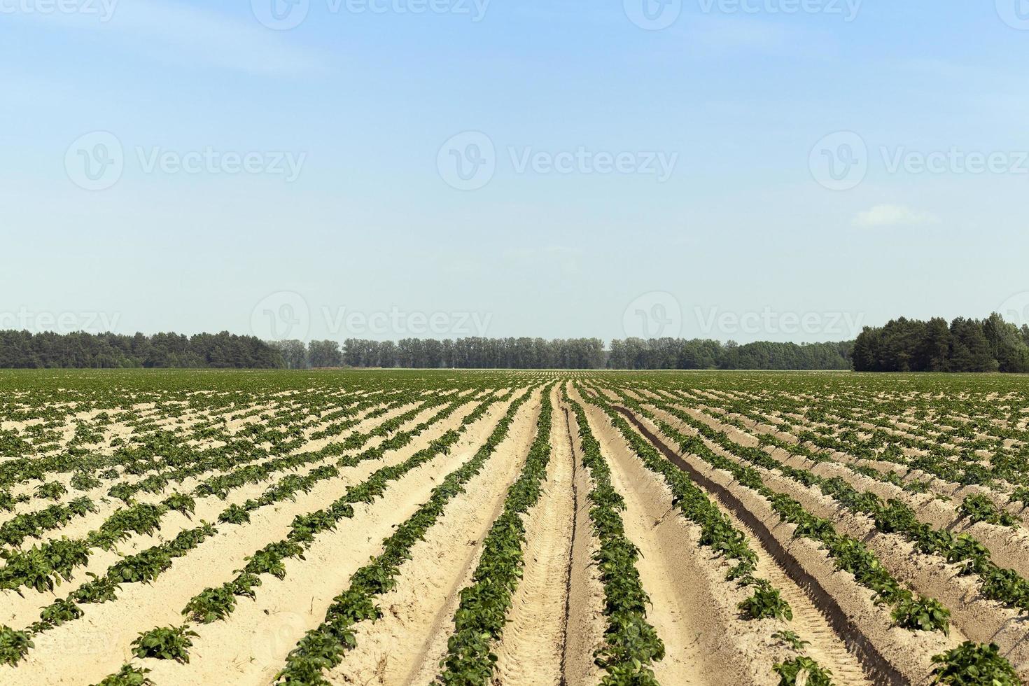
[[[280,366],[282,358],[274,348],[254,336],[227,331],[194,336],[0,331],[0,367],[5,368]]]

